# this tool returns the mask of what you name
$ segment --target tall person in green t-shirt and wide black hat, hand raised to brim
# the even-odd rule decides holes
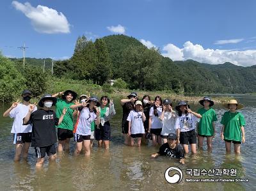
[[[61,96],[61,98],[57,98],[56,103],[57,118],[60,118],[61,111],[63,111],[64,108],[67,109],[63,121],[60,123],[60,125],[58,125],[58,151],[60,152],[65,149],[69,149],[70,138],[73,137],[73,118],[76,116],[77,111],[70,109],[70,105],[74,105],[72,101],[76,100],[77,93],[72,90],[67,90],[52,95],[52,97],[57,96]]]

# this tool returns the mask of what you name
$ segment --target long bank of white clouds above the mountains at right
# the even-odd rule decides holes
[[[184,43],[182,49],[169,43],[163,47],[163,50],[165,52],[162,55],[170,57],[174,61],[193,59],[201,63],[209,63],[212,65],[225,62],[242,66],[256,65],[256,50],[204,49],[202,45],[193,45],[193,43],[189,41]]]

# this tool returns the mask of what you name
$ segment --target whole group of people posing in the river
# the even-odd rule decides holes
[[[29,102],[31,95],[31,91],[24,90],[22,102],[17,100],[12,103],[3,114],[4,117],[14,118],[11,133],[15,144],[15,161],[20,160],[21,156],[26,159],[31,145],[35,148],[36,167],[41,167],[45,154],[51,160],[56,158],[57,139],[57,150],[61,152],[69,149],[70,139],[74,137],[75,156],[82,150],[84,155],[90,156],[94,139],[98,141],[99,147],[109,149],[109,121],[116,111],[113,100],[108,96],[98,100],[96,96],[81,95],[77,100],[77,93],[67,90],[53,95],[45,94],[38,104],[33,104]],[[184,101],[180,101],[174,110],[172,101],[168,98],[162,100],[160,96],[150,100],[150,96],[145,95],[140,101],[135,92],[120,103],[123,109],[122,133],[125,144],[134,146],[136,141],[140,147],[141,142],[148,144],[148,140],[152,139],[152,146],[160,148],[151,157],[166,155],[178,158],[182,164],[184,155],[189,153],[189,145],[191,153],[196,153],[197,139],[198,148],[202,149],[206,137],[208,150],[211,151],[217,121],[211,98],[200,100],[202,108],[197,112],[192,111]],[[55,112],[52,106],[56,107]],[[221,139],[225,141],[227,153],[231,151],[231,142],[234,143],[235,153],[240,153],[241,142],[245,141],[245,121],[237,109],[243,106],[236,100],[230,100],[225,106],[228,111],[221,119]]]

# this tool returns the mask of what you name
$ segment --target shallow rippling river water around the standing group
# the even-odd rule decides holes
[[[151,143],[141,148],[124,146],[121,134],[122,109],[115,100],[116,116],[111,121],[112,140],[109,151],[97,148],[94,142],[90,158],[74,158],[74,142],[70,152],[58,154],[56,162],[45,160],[41,170],[35,169],[35,150],[29,149],[28,162],[13,162],[13,136],[10,134],[12,119],[2,114],[9,104],[0,104],[0,190],[255,190],[255,128],[256,96],[234,95],[244,104],[240,111],[246,119],[246,142],[241,145],[241,156],[226,155],[225,142],[220,139],[220,119],[225,109],[214,105],[218,114],[217,134],[213,139],[212,153],[204,151],[186,156],[186,164],[166,158],[150,158],[157,148]],[[196,111],[200,105],[191,105]],[[179,167],[183,172],[180,183],[170,184],[164,178],[168,167]],[[236,169],[236,176],[189,176],[188,169]],[[171,174],[172,176],[172,174]],[[187,182],[186,178],[237,178],[249,182]]]

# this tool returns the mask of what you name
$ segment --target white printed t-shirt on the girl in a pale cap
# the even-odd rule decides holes
[[[131,122],[131,134],[145,134],[142,112],[130,111],[127,121]]]

